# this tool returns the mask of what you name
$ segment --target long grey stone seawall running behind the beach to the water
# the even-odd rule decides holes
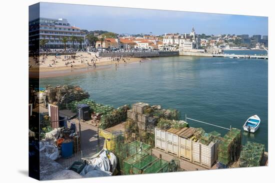
[[[178,56],[178,51],[146,51],[146,52],[100,52],[100,57],[159,57],[159,56]]]

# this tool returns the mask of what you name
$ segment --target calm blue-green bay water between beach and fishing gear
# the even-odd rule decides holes
[[[235,53],[239,54],[239,53]],[[245,53],[246,54],[246,53]],[[254,54],[254,53],[251,53]],[[256,54],[256,53],[255,53]],[[78,75],[41,78],[46,85],[79,85],[97,103],[119,107],[137,101],[175,108],[188,118],[222,127],[242,129],[248,117],[257,114],[260,127],[247,140],[267,141],[268,60],[219,57],[157,57],[142,63],[119,64]],[[188,121],[206,132],[226,130]]]

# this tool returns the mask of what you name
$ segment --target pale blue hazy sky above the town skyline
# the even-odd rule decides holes
[[[66,18],[71,25],[86,30],[107,30],[125,34],[268,35],[268,18],[232,14],[154,10],[62,3],[40,3],[40,17]]]

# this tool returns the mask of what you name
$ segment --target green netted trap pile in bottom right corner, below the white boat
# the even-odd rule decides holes
[[[264,145],[247,142],[240,152],[239,167],[258,167],[264,153]]]

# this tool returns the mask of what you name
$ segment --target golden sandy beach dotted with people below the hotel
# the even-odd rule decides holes
[[[40,55],[38,60],[29,58],[29,72],[37,72],[39,67],[39,75],[44,77],[56,77],[71,74],[78,74],[84,72],[95,71],[99,69],[108,68],[111,65],[128,64],[133,62],[139,62],[141,58],[133,57],[98,57],[95,53],[77,52],[75,58],[70,55],[60,56],[45,56]]]

